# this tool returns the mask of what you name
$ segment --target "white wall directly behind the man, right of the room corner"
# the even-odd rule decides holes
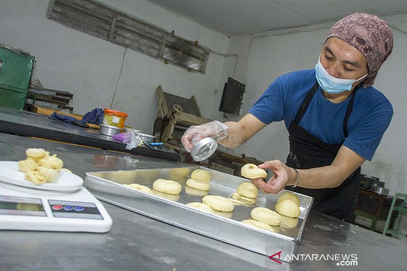
[[[390,194],[406,193],[407,144],[404,140],[407,132],[407,14],[387,16],[383,19],[388,21],[393,29],[394,49],[382,66],[374,86],[391,101],[394,117],[372,161],[363,164],[362,173],[381,178],[386,183],[386,188],[390,189]],[[326,23],[230,38],[227,54],[237,54],[238,57],[225,60],[214,108],[219,108],[227,76],[247,85],[241,115],[243,116],[279,75],[294,70],[313,69],[332,25],[333,23]],[[236,59],[238,61],[234,72]],[[214,110],[212,119],[222,122],[237,121],[241,116],[232,115],[227,119],[223,117],[222,112]],[[236,148],[235,152],[262,161],[279,159],[285,162],[288,153],[287,137],[288,132],[283,122],[273,123]]]

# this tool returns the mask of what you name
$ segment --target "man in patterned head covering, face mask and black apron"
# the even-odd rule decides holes
[[[290,150],[284,164],[267,161],[263,192],[286,188],[314,197],[313,208],[350,222],[356,208],[360,166],[371,160],[388,128],[393,109],[371,85],[393,49],[393,35],[380,18],[355,13],[338,21],[314,70],[277,78],[239,122],[190,127],[182,142],[190,151],[205,137],[236,147],[268,124],[284,121]]]

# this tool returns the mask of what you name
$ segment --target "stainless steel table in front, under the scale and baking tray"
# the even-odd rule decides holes
[[[86,171],[190,166],[0,133],[0,160],[20,160],[28,147],[56,153],[81,177]],[[293,254],[296,258],[279,264],[103,204],[113,219],[108,233],[0,231],[0,270],[405,270],[407,266],[405,243],[317,212],[310,213]],[[327,257],[333,260],[324,260]],[[342,257],[350,257],[347,263],[353,266],[345,266]],[[356,262],[351,261],[354,257]]]

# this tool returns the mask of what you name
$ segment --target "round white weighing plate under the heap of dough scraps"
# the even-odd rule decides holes
[[[83,179],[78,175],[61,170],[56,183],[45,183],[35,185],[30,180],[24,179],[24,172],[18,170],[18,162],[0,161],[0,181],[12,185],[28,188],[54,190],[54,191],[72,191],[82,187]]]

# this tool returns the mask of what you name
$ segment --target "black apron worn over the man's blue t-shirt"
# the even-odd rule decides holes
[[[299,125],[317,89],[318,83],[316,82],[302,102],[294,121],[288,127],[289,154],[286,165],[289,167],[309,169],[329,166],[342,146],[343,142],[340,144],[325,143]],[[348,135],[347,121],[352,112],[356,90],[355,87],[343,120],[345,138]],[[347,177],[340,186],[335,188],[309,189],[286,187],[285,189],[313,197],[312,209],[340,220],[351,222],[356,209],[359,177],[360,167]],[[324,180],[316,178],[314,182],[324,182]]]

